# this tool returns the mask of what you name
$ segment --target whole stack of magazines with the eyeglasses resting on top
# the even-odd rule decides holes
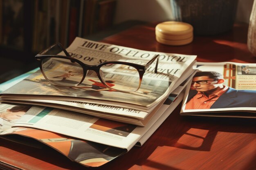
[[[40,70],[0,95],[0,135],[23,144],[17,134],[30,137],[101,166],[143,145],[171,114],[196,73],[195,58],[83,38],[67,49],[54,44],[36,55]]]

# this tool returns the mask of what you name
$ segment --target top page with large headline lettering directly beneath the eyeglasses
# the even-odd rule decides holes
[[[107,61],[121,61],[133,64],[146,64],[152,57],[159,54],[159,64],[157,73],[154,73],[155,62],[149,66],[144,73],[141,86],[138,91],[130,93],[122,93],[108,88],[103,88],[94,71],[87,71],[86,76],[81,83],[82,88],[70,88],[54,86],[45,80],[40,71],[27,77],[22,82],[4,91],[3,94],[18,94],[30,95],[30,97],[41,96],[59,96],[65,97],[80,97],[83,99],[95,99],[95,101],[103,100],[110,102],[119,102],[123,104],[133,104],[150,108],[163,100],[173,90],[173,86],[183,73],[191,66],[196,56],[181,55],[171,53],[159,53],[131,49],[123,46],[116,46],[106,43],[94,42],[82,38],[76,38],[74,42],[67,48],[67,52],[74,59],[88,65],[98,65]],[[59,55],[64,55],[60,53]],[[119,84],[112,82],[109,86],[118,89],[127,90],[137,83],[139,79],[136,76],[128,76],[128,73],[134,72],[130,67],[123,68],[122,65],[110,64],[102,74],[106,79],[115,79]],[[83,78],[83,73],[78,64],[69,67],[67,62],[62,60],[52,59],[44,62],[44,67],[47,70],[49,79],[58,83],[74,83],[76,80]],[[114,76],[114,77],[113,77]],[[130,77],[130,79],[127,79]],[[186,77],[185,77],[186,78]],[[109,80],[110,81],[110,80]],[[128,85],[129,84],[129,85]],[[64,99],[62,99],[64,100]],[[74,101],[74,99],[68,99]],[[84,101],[83,101],[84,102]],[[91,101],[85,101],[91,102]],[[91,102],[93,103],[93,102]]]

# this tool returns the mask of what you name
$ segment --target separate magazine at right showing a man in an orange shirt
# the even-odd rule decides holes
[[[181,115],[256,118],[256,64],[197,62]]]

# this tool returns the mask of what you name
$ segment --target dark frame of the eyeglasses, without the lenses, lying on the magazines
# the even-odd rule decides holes
[[[50,49],[52,49],[54,46],[59,46],[61,48],[61,50],[65,53],[65,55],[67,56],[63,56],[63,55],[43,55],[44,53],[47,53],[47,51],[49,51]],[[64,86],[64,85],[60,85],[60,84],[56,84],[54,82],[52,82],[51,80],[49,80],[47,78],[47,76],[45,75],[44,71],[43,71],[43,60],[45,58],[49,58],[49,57],[55,57],[55,58],[63,58],[63,59],[68,59],[71,62],[76,62],[78,64],[81,65],[81,67],[83,68],[83,77],[81,79],[81,81],[75,85],[72,86]],[[95,71],[95,73],[97,74],[99,80],[101,81],[101,83],[103,83],[107,88],[111,89],[111,90],[115,90],[115,91],[121,91],[121,90],[117,90],[115,88],[112,88],[110,86],[108,86],[108,84],[106,84],[106,82],[102,79],[101,75],[100,75],[100,68],[101,66],[107,65],[107,64],[123,64],[123,65],[127,65],[127,66],[132,66],[134,67],[138,73],[139,73],[139,86],[137,87],[137,89],[132,90],[132,91],[121,91],[121,92],[134,92],[137,91],[140,86],[141,86],[141,82],[142,82],[142,77],[144,75],[144,73],[146,72],[147,68],[155,61],[157,60],[156,66],[155,66],[155,73],[157,73],[157,66],[158,66],[158,61],[159,61],[159,55],[155,55],[149,62],[147,62],[144,65],[140,65],[140,64],[135,64],[135,63],[130,63],[130,62],[120,62],[120,61],[107,61],[107,62],[103,62],[101,64],[98,65],[88,65],[85,64],[83,62],[81,62],[80,60],[73,58],[70,56],[70,54],[64,49],[64,47],[61,45],[61,43],[57,42],[55,44],[53,44],[52,46],[50,46],[49,48],[41,51],[40,53],[38,53],[35,56],[36,61],[39,64],[39,68],[43,74],[43,76],[45,77],[45,79],[50,82],[51,84],[54,84],[56,86],[63,86],[63,87],[79,87],[79,84],[81,84],[83,82],[83,80],[86,77],[87,71],[92,70]]]

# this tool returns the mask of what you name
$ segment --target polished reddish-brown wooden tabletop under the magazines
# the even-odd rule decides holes
[[[131,48],[198,55],[200,62],[253,62],[247,49],[247,25],[228,33],[195,36],[191,44],[167,46],[155,41],[155,24],[135,26],[103,40]],[[182,117],[181,104],[142,147],[99,168],[74,163],[52,148],[35,149],[0,139],[0,168],[28,170],[255,170],[256,120]]]

